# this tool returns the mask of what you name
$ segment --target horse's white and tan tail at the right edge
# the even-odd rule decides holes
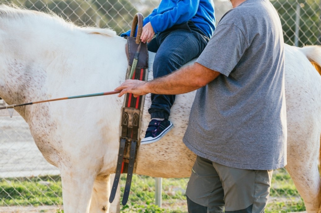
[[[314,68],[318,71],[318,73],[321,75],[321,46],[320,45],[312,45],[312,46],[304,46],[300,48],[300,50],[305,54],[305,56],[308,58],[308,60],[311,62],[311,64],[314,66]],[[321,166],[321,135],[320,135],[320,166]],[[321,191],[320,191],[320,199],[321,201]],[[321,202],[319,204],[318,213],[321,213]]]

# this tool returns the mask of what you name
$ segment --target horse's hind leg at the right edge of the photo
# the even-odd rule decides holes
[[[288,139],[288,165],[286,166],[308,213],[319,213],[321,180],[318,170],[320,136],[310,140]]]

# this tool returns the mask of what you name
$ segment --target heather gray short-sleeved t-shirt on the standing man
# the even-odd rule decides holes
[[[284,167],[284,49],[273,5],[247,0],[227,12],[196,62],[221,74],[196,93],[186,146],[233,168]]]

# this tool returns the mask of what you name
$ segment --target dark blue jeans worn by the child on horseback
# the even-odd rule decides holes
[[[153,77],[161,77],[178,70],[188,61],[198,57],[209,38],[192,21],[175,25],[148,43],[148,50],[156,53]],[[152,105],[148,109],[151,118],[168,119],[175,95],[152,94]]]

